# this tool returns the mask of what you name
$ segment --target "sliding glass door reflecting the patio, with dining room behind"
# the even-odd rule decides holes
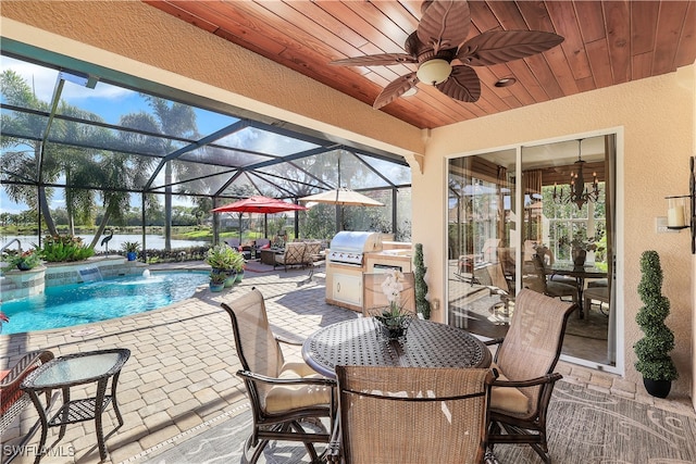
[[[448,322],[502,337],[518,289],[574,301],[563,355],[616,366],[616,136],[456,158]]]

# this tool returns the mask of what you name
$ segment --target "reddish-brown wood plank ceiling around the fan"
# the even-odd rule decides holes
[[[343,67],[332,60],[403,52],[421,1],[159,1],[146,3],[370,105],[413,64]],[[696,61],[696,1],[470,1],[470,38],[487,30],[546,30],[564,41],[543,54],[474,70],[475,103],[420,83],[382,108],[419,128],[485,116],[675,71]],[[496,87],[514,77],[509,87]]]

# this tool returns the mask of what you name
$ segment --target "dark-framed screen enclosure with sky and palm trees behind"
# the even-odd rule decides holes
[[[167,250],[231,234],[330,239],[338,230],[372,230],[410,240],[411,174],[401,156],[2,45],[3,244],[69,234],[100,252],[114,230]],[[211,212],[251,196],[297,203],[340,187],[384,206]],[[178,226],[188,226],[183,240]]]

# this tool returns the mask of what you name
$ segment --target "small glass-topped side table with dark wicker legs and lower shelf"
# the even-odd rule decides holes
[[[107,446],[104,444],[104,434],[102,428],[102,414],[109,403],[113,403],[113,410],[119,419],[119,425],[109,432],[116,431],[123,426],[123,417],[119,411],[116,402],[116,385],[121,368],[130,356],[127,349],[111,349],[89,351],[85,353],[69,354],[55,358],[39,366],[27,376],[22,383],[22,389],[27,391],[36,406],[41,422],[41,440],[39,442],[36,460],[38,464],[44,455],[44,446],[49,427],[61,427],[58,441],[65,436],[65,426],[84,421],[95,419],[97,431],[97,444],[101,461],[107,459]],[[111,394],[107,394],[107,384],[111,380]],[[70,389],[84,384],[97,383],[97,394],[94,398],[80,400],[70,399]],[[39,394],[52,389],[61,389],[63,405],[48,419],[48,411],[39,402]]]

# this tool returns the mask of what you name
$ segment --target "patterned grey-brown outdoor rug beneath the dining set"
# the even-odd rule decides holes
[[[165,451],[148,464],[244,463],[248,407]],[[687,464],[696,462],[696,418],[560,381],[549,406],[548,441],[556,464]],[[538,464],[529,446],[499,444],[500,464]],[[303,463],[302,446],[270,443],[262,463]],[[397,463],[395,463],[397,464]],[[398,463],[409,464],[409,463]]]

